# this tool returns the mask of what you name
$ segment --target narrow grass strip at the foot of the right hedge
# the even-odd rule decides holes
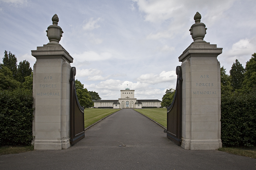
[[[256,147],[251,148],[219,148],[218,151],[256,159]]]

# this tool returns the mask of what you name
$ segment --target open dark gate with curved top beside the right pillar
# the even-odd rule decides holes
[[[177,83],[171,106],[167,107],[167,138],[181,144],[182,133],[182,72],[176,67]]]

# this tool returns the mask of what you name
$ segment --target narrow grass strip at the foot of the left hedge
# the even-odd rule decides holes
[[[21,152],[33,151],[34,146],[3,146],[0,147],[0,155],[19,154]]]

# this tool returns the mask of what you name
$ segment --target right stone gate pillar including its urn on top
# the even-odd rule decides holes
[[[194,42],[179,57],[182,62],[182,143],[191,150],[222,147],[220,139],[220,63],[222,48],[205,42],[206,29],[195,14],[190,34]]]

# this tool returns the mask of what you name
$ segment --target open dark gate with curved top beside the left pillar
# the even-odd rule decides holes
[[[75,86],[76,67],[71,68],[70,74],[70,144],[84,138],[84,108],[80,105]]]

